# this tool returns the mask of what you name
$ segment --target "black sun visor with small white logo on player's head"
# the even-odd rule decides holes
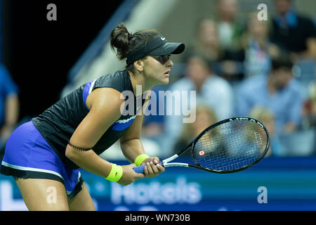
[[[144,58],[147,55],[152,56],[165,56],[170,54],[180,54],[185,50],[185,44],[167,42],[166,38],[162,35],[158,35],[147,42],[140,49],[129,54],[126,59],[126,64],[130,65],[140,58]]]

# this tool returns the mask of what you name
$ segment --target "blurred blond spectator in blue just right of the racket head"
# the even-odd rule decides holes
[[[284,156],[284,148],[279,141],[277,134],[275,134],[275,116],[273,113],[267,108],[263,107],[254,107],[251,109],[250,117],[259,120],[265,127],[267,127],[269,135],[270,135],[270,148],[268,153],[265,155],[275,155],[275,156]]]

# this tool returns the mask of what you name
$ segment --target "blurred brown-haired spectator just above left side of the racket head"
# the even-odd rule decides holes
[[[207,105],[197,105],[196,120],[192,123],[184,124],[181,135],[174,146],[174,153],[185,148],[195,139],[204,129],[217,122],[214,110]]]

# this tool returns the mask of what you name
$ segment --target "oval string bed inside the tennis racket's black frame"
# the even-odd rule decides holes
[[[228,171],[258,160],[268,145],[265,129],[249,120],[220,124],[195,143],[193,158],[204,168]]]

